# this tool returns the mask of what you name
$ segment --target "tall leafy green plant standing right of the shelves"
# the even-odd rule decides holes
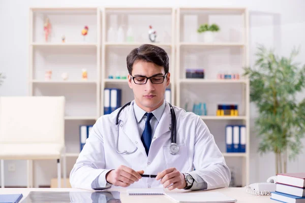
[[[276,56],[273,50],[258,47],[256,69],[244,68],[250,80],[250,99],[258,108],[255,121],[258,151],[275,153],[276,173],[287,172],[287,159],[301,152],[300,139],[305,133],[305,99],[296,94],[305,87],[305,65],[298,67],[293,58]]]

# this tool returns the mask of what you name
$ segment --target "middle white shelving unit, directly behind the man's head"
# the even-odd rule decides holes
[[[122,89],[122,105],[134,99],[132,90],[126,84],[127,79],[108,79],[108,76],[128,76],[126,57],[129,52],[142,44],[154,44],[165,49],[169,54],[171,77],[171,97],[174,103],[174,25],[175,10],[173,8],[111,8],[107,7],[102,12],[102,66],[101,66],[101,115],[104,114],[104,88]],[[145,20],[143,20],[145,19]],[[151,23],[157,31],[157,42],[148,39],[148,26]],[[124,38],[110,36],[108,30],[124,29]],[[127,39],[127,30],[133,31],[133,40]],[[164,32],[162,33],[161,30]],[[161,33],[160,33],[161,32]]]

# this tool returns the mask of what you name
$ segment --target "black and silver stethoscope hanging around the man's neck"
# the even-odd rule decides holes
[[[115,151],[118,154],[133,154],[138,150],[138,147],[136,146],[136,149],[133,152],[128,152],[127,150],[125,150],[124,152],[119,152],[118,151],[118,137],[119,137],[119,125],[118,125],[118,116],[120,114],[120,112],[127,106],[129,106],[131,104],[131,102],[125,104],[117,113],[116,118],[115,118],[115,125],[117,125],[117,141],[116,141],[116,147],[115,147]],[[169,104],[169,103],[168,103]],[[173,106],[171,106],[171,104],[169,104],[170,107],[170,114],[171,114],[171,127],[170,127],[170,146],[169,146],[169,152],[171,154],[176,154],[179,152],[179,147],[176,143],[176,114],[175,111],[173,109]]]

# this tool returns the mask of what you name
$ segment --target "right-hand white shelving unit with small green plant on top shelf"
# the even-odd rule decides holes
[[[223,151],[227,164],[232,158],[241,159],[241,185],[249,184],[250,162],[250,92],[249,80],[219,80],[220,71],[241,75],[249,65],[247,9],[237,8],[178,8],[176,20],[176,105],[185,108],[193,102],[205,102],[207,123],[216,143]],[[220,31],[214,41],[205,42],[197,28],[203,23],[216,23]],[[204,79],[186,78],[186,69],[204,69]],[[239,116],[216,116],[217,104],[238,104]],[[247,126],[246,153],[226,153],[225,125]],[[234,160],[233,160],[234,161]],[[237,160],[238,161],[238,160]],[[240,160],[239,160],[240,161]],[[236,160],[235,160],[236,162]],[[235,168],[236,169],[236,168]]]

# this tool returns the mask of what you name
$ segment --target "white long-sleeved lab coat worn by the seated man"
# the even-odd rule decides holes
[[[169,167],[175,167],[181,173],[188,172],[197,182],[201,177],[207,183],[207,189],[228,187],[231,179],[230,170],[217,147],[214,137],[202,119],[194,113],[174,107],[177,118],[177,145],[180,150],[172,155],[170,146],[170,107],[166,103],[164,113],[155,130],[148,156],[141,142],[137,121],[133,110],[134,101],[119,115],[119,139],[117,150],[127,150],[133,154],[116,152],[117,126],[115,118],[118,110],[101,116],[93,126],[86,144],[79,154],[71,171],[72,187],[92,189],[97,177],[119,165],[126,165],[144,174],[158,174]],[[195,171],[194,171],[195,168]],[[106,186],[106,180],[100,187]],[[142,178],[129,187],[162,187],[154,178]]]

